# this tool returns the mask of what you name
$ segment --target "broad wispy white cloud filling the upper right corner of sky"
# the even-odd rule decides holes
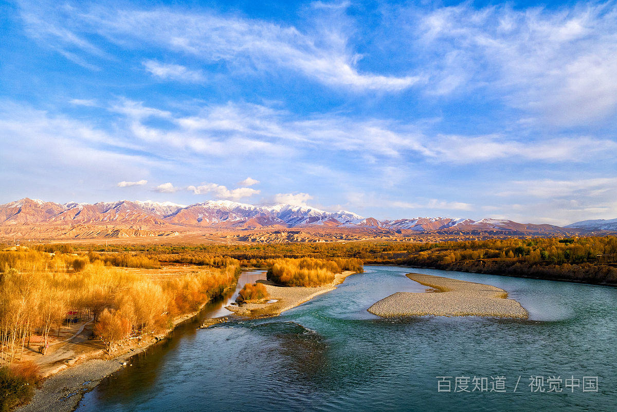
[[[596,122],[617,110],[617,9],[592,2],[560,9],[512,9],[469,2],[425,13],[405,10],[433,52],[429,88],[438,94],[491,89],[542,122]]]

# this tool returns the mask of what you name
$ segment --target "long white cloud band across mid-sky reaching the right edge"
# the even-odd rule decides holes
[[[318,150],[355,152],[366,162],[381,158],[430,160],[438,163],[512,161],[587,162],[610,157],[617,142],[591,136],[515,140],[509,134],[464,136],[431,134],[423,125],[375,118],[356,119],[340,113],[315,115],[308,120],[284,110],[256,104],[203,107],[193,115],[175,115],[123,99],[112,107],[130,120],[128,129],[149,144],[224,156],[263,153],[292,157]],[[144,124],[148,117],[165,118],[175,128]],[[421,122],[419,122],[421,123]],[[394,174],[391,174],[394,175]]]

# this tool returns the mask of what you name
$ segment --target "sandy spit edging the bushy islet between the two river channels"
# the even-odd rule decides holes
[[[272,303],[244,303],[241,306],[230,305],[225,308],[233,311],[238,316],[251,316],[265,318],[267,316],[278,316],[286,310],[295,308],[304,302],[308,302],[317,295],[336,289],[337,284],[341,284],[347,276],[356,272],[344,271],[334,276],[334,282],[327,286],[319,287],[284,287],[276,286],[272,282],[259,281],[263,283],[268,291],[268,299],[276,300]]]

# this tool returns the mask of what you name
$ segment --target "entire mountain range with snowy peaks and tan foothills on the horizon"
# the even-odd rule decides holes
[[[247,231],[252,233],[247,234]],[[249,242],[430,236],[481,239],[494,236],[569,236],[592,231],[617,231],[617,219],[586,220],[561,228],[489,218],[377,220],[346,210],[326,212],[314,207],[284,204],[255,206],[230,200],[209,200],[193,205],[151,200],[58,204],[25,198],[0,205],[0,236],[35,239],[195,237],[212,234]]]

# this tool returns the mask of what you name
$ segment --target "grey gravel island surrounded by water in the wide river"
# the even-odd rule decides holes
[[[424,286],[425,293],[397,292],[368,308],[378,316],[497,316],[526,319],[529,314],[520,303],[507,299],[499,287],[459,281],[428,274],[409,273],[407,277]],[[433,293],[430,293],[433,292]]]

